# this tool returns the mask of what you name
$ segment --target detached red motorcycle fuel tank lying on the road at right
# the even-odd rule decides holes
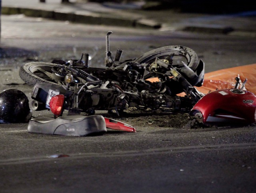
[[[256,122],[256,96],[240,89],[210,92],[194,105],[190,115],[202,116],[203,123],[251,124]]]

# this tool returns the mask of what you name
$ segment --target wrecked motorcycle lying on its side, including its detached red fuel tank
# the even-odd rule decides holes
[[[136,107],[190,112],[203,123],[212,123],[209,120],[214,116],[219,121],[255,122],[255,117],[246,119],[255,110],[254,94],[238,86],[233,90],[219,90],[217,94],[205,95],[196,90],[195,86],[203,85],[204,63],[194,50],[170,45],[146,52],[137,59],[120,61],[123,51],[117,50],[113,58],[109,50],[111,33],[106,36],[105,68],[89,66],[89,54],[82,54],[79,60],[23,65],[19,71],[21,79],[34,86],[33,110],[50,109],[56,118],[64,110],[74,116],[81,112],[93,115],[96,110],[115,111],[120,116],[124,110]],[[234,99],[232,104],[228,103],[231,99]],[[221,102],[227,104],[223,110]],[[244,114],[238,113],[240,108],[244,108]]]

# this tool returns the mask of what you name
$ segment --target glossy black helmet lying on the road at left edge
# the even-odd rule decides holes
[[[8,89],[0,93],[0,123],[28,122],[31,111],[28,97],[17,89]]]

